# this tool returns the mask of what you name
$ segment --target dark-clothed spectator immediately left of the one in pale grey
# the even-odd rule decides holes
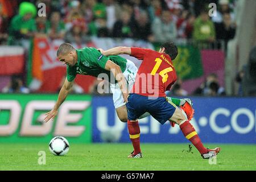
[[[151,23],[146,11],[141,11],[138,20],[135,20],[132,27],[133,38],[153,42],[154,36],[151,32]]]

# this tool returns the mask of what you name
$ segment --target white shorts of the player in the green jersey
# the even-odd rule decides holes
[[[137,72],[138,72],[138,68],[135,66],[135,64],[132,61],[127,60],[126,69],[125,69],[125,72],[123,72],[123,75],[125,76],[126,83],[129,88],[129,92],[133,88]],[[118,83],[110,84],[110,89],[113,93],[113,102],[114,102],[115,109],[125,105],[125,102],[123,102],[124,100],[123,100],[122,92],[119,88]]]

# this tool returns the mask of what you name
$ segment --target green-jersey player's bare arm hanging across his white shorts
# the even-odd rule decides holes
[[[118,81],[118,85],[120,87],[120,90],[123,95],[123,100],[125,102],[128,102],[128,90],[127,90],[127,85],[125,81],[125,76],[123,75],[121,68],[119,65],[113,63],[112,61],[108,60],[105,65],[105,69],[109,70],[113,73],[115,80]]]

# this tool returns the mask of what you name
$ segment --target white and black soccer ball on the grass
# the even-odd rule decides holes
[[[53,155],[66,155],[69,150],[68,140],[64,137],[54,137],[49,143],[49,150]]]

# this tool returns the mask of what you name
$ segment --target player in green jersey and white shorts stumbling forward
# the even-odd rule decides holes
[[[60,90],[59,97],[53,109],[46,113],[44,122],[56,117],[60,105],[71,91],[77,74],[104,77],[110,82],[113,93],[113,102],[118,118],[127,122],[126,102],[129,91],[135,82],[138,68],[135,64],[121,56],[104,56],[93,47],[75,49],[71,44],[63,43],[57,49],[57,58],[67,65],[67,78]],[[191,104],[189,99],[168,98],[177,106]],[[140,118],[147,117],[145,113]]]

